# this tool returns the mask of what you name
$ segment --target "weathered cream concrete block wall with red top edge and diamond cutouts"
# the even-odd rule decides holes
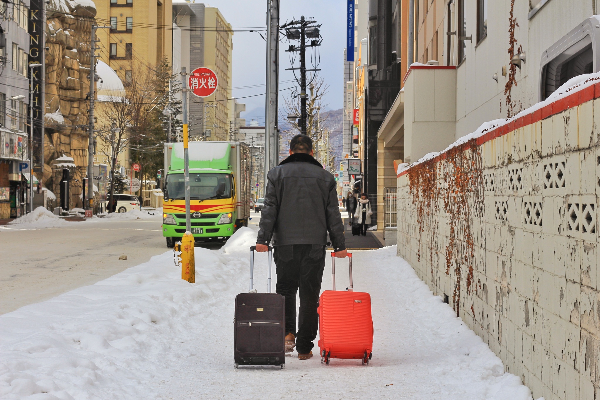
[[[475,182],[467,211],[454,222],[473,233],[472,244],[454,233],[467,249],[458,263],[447,255],[452,215],[444,204],[452,157],[421,167],[437,169],[440,196],[420,220],[416,175],[398,175],[398,255],[533,398],[600,399],[599,97],[600,87],[589,86],[463,150],[479,161],[467,172]]]

